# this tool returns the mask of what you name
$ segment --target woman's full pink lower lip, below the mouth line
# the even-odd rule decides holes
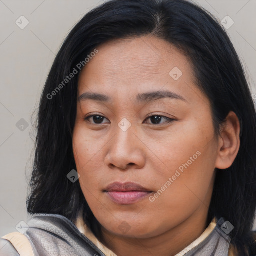
[[[107,191],[107,195],[118,204],[131,204],[151,194],[149,191]]]

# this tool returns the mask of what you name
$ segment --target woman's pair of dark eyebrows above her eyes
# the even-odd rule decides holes
[[[160,91],[149,91],[149,92],[137,94],[135,103],[140,103],[140,102],[148,103],[160,98],[180,99],[187,102],[187,100],[179,94],[176,94],[168,90],[160,90]],[[112,99],[109,96],[95,93],[95,92],[85,92],[78,97],[77,101],[84,101],[86,99],[92,99],[92,100],[97,100],[102,102],[112,101]]]

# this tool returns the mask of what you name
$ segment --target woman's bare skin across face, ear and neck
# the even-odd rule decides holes
[[[230,112],[214,135],[209,100],[196,86],[189,60],[165,40],[147,35],[97,49],[79,74],[77,96],[97,92],[112,102],[77,101],[73,152],[82,192],[102,226],[102,243],[118,256],[175,255],[209,224],[215,168],[229,167],[239,149],[238,118]],[[169,74],[174,67],[182,71],[177,80]],[[138,93],[163,89],[185,100],[134,103]],[[151,113],[174,120],[162,117],[157,124]],[[105,118],[85,121],[91,114]],[[131,124],[126,131],[118,126],[123,118]],[[147,196],[120,205],[103,192],[114,181],[131,181],[154,195],[197,151],[153,202]]]

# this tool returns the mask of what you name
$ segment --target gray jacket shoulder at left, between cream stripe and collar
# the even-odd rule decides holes
[[[105,254],[66,217],[58,214],[34,214],[24,235],[39,255]],[[46,248],[46,250],[45,250]]]

